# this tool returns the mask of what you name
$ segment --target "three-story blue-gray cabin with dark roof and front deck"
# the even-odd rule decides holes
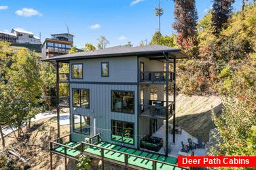
[[[58,138],[51,143],[51,154],[74,158],[76,155],[69,155],[68,152],[81,144],[80,149],[74,153],[84,153],[94,158],[98,155],[98,158],[104,158],[105,161],[112,160],[112,163],[118,165],[123,163],[124,167],[141,169],[139,165],[130,164],[128,156],[139,152],[135,157],[141,159],[140,156],[144,155],[141,150],[145,151],[145,137],[151,137],[164,125],[164,121],[168,139],[168,120],[172,116],[175,127],[176,60],[184,58],[187,56],[181,49],[153,45],[117,46],[43,59],[56,64],[57,69],[58,137],[59,108],[69,107],[71,118],[69,142],[64,143],[61,137]],[[60,63],[69,63],[69,73],[58,72]],[[59,83],[69,83],[68,102],[60,100]],[[173,137],[175,142],[175,133]],[[156,153],[164,147],[166,154],[165,157],[156,154],[156,158],[153,158],[155,154],[152,153],[151,156],[144,156],[152,161],[146,169],[156,169],[160,166],[161,158],[168,160],[168,140],[164,144],[161,139],[154,138],[153,141],[155,144],[151,148],[146,147],[149,153],[150,149]],[[106,158],[105,149],[113,152],[113,148],[104,148],[108,144],[113,145],[113,148],[120,147],[116,152],[124,152],[124,160]],[[58,152],[61,147],[62,153]],[[89,152],[88,148],[91,147],[99,151]],[[164,166],[172,166],[168,163]]]

